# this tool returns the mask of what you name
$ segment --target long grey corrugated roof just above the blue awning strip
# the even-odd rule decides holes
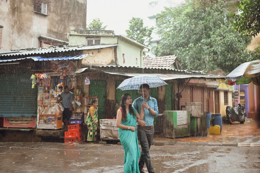
[[[44,54],[44,53],[54,53],[54,52],[68,52],[75,50],[89,50],[89,49],[101,49],[106,47],[118,46],[120,44],[106,44],[106,45],[97,45],[97,46],[78,46],[78,47],[51,47],[51,48],[37,48],[29,50],[15,50],[15,51],[0,51],[0,57],[4,56],[17,56],[17,55],[35,55],[35,54]]]

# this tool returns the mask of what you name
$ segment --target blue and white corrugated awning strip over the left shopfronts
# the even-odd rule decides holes
[[[59,57],[41,57],[41,56],[32,56],[26,58],[19,58],[19,59],[8,59],[8,60],[0,60],[0,62],[7,62],[7,61],[17,61],[17,60],[24,60],[24,59],[32,59],[34,61],[52,61],[52,60],[80,60],[84,57],[87,57],[88,54],[85,55],[76,55],[76,56],[59,56]]]

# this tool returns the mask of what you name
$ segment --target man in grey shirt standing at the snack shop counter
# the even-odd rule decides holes
[[[62,122],[64,123],[65,129],[67,128],[68,120],[72,114],[73,98],[73,93],[69,91],[69,87],[66,85],[64,87],[64,92],[61,93],[61,98],[58,100],[58,103],[62,101],[61,104],[64,107],[64,111],[62,112]]]

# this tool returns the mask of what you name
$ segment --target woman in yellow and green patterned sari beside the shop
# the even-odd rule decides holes
[[[92,101],[93,106],[89,108],[89,114],[87,116],[87,126],[88,126],[88,138],[87,141],[96,142],[97,136],[97,100]]]

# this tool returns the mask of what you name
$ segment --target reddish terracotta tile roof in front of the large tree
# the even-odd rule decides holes
[[[155,67],[155,68],[171,68],[172,64],[176,60],[175,55],[160,56],[160,57],[144,57],[144,67]]]

